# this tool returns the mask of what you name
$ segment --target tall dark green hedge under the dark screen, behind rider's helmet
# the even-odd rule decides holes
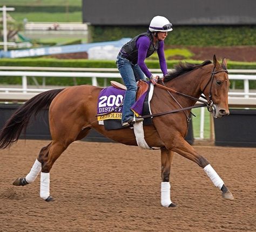
[[[92,26],[93,42],[134,37],[147,31],[146,26]],[[256,26],[173,26],[166,45],[253,46]]]

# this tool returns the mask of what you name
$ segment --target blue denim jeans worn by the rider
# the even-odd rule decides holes
[[[133,111],[130,109],[136,100],[137,81],[146,80],[142,69],[136,64],[132,64],[130,60],[123,57],[117,57],[117,68],[122,76],[124,85],[127,90],[124,96],[124,105],[122,111],[122,122],[130,121],[133,118]]]

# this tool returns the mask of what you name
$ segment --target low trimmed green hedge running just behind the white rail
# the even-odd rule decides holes
[[[186,60],[192,64],[200,64],[202,61]],[[179,60],[167,61],[167,67],[173,68],[178,64]],[[159,61],[147,60],[146,65],[149,68],[159,68]],[[43,59],[43,58],[25,58],[25,59],[0,59],[0,66],[31,66],[31,67],[79,67],[79,68],[116,68],[114,61],[109,60],[59,60],[59,59]],[[256,69],[256,62],[228,62],[229,69]],[[103,79],[98,79],[99,85],[103,86]],[[116,79],[109,79],[116,80]],[[42,78],[37,78],[39,84],[42,84]],[[46,85],[57,86],[73,86],[75,84],[91,84],[91,78],[76,78],[77,83],[71,78],[47,78]],[[29,84],[33,85],[32,78],[28,80]],[[4,85],[21,85],[20,77],[1,77],[0,83]],[[109,83],[109,82],[108,82]],[[231,83],[232,85],[232,83]],[[235,82],[236,88],[243,88],[242,81]],[[250,81],[250,88],[256,89],[255,81]]]

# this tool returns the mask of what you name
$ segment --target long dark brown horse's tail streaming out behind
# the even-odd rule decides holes
[[[52,89],[32,97],[17,109],[0,131],[0,149],[5,149],[17,142],[21,132],[28,126],[32,115],[37,115],[42,108],[48,108],[52,100],[63,89]]]

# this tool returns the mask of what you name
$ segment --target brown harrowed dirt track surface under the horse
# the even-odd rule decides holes
[[[256,149],[194,146],[235,200],[221,198],[205,172],[176,154],[172,201],[160,206],[160,152],[117,143],[75,142],[51,170],[51,195],[25,176],[48,141],[19,140],[0,157],[0,231],[256,231]]]

